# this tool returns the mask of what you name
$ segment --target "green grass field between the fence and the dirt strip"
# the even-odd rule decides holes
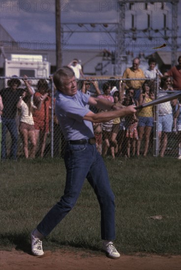
[[[115,241],[123,253],[181,253],[181,161],[171,158],[105,160],[116,196]],[[30,231],[60,199],[63,160],[0,164],[0,248],[30,252]],[[162,220],[150,216],[162,215]],[[100,211],[86,181],[75,208],[44,241],[44,249],[100,250]]]

